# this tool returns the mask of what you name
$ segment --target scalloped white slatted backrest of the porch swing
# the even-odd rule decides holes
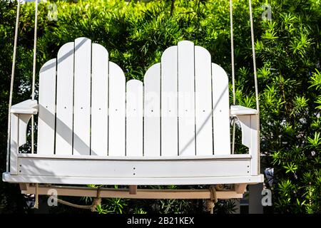
[[[166,49],[143,83],[126,83],[88,38],[63,45],[39,74],[39,154],[230,154],[228,76],[190,41]]]

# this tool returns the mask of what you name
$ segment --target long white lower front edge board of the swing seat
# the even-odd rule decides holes
[[[32,182],[68,185],[218,185],[235,183],[263,182],[264,176],[233,176],[233,177],[168,177],[168,178],[121,178],[121,177],[59,177],[41,175],[10,175],[4,173],[6,182]]]

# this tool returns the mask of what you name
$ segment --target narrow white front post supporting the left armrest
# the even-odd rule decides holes
[[[11,114],[10,132],[10,173],[18,174],[18,153],[19,153],[19,114]]]

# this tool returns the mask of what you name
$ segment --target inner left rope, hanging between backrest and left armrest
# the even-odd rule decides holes
[[[38,27],[38,0],[35,0],[35,16],[34,16],[34,65],[32,71],[32,94],[34,100],[34,90],[36,84],[36,52],[37,52],[37,27]],[[31,153],[34,153],[34,115],[31,117]]]

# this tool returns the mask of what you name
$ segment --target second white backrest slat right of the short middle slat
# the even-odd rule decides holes
[[[171,46],[161,58],[161,156],[178,155],[177,66],[177,46]]]

